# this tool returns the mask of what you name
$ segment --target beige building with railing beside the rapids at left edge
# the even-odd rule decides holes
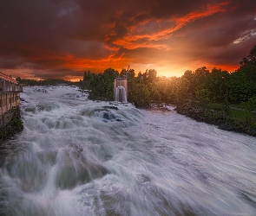
[[[10,122],[11,110],[20,104],[20,92],[23,92],[23,87],[16,79],[0,72],[0,127]]]

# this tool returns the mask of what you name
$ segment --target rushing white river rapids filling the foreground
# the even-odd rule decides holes
[[[0,215],[256,215],[256,139],[172,111],[25,87]],[[115,109],[118,108],[118,110]]]

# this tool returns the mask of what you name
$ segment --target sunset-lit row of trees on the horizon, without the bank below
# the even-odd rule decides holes
[[[137,107],[148,107],[152,102],[180,105],[187,100],[199,101],[202,105],[217,102],[253,104],[256,100],[256,46],[240,67],[233,73],[213,68],[200,67],[187,70],[181,77],[159,77],[154,69],[135,76],[134,69],[113,68],[103,73],[85,72],[82,88],[89,90],[89,98],[113,100],[114,79],[128,79],[128,101]]]

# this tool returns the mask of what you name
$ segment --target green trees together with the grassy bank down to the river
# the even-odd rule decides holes
[[[256,137],[256,46],[232,73],[199,67],[181,77],[159,77],[154,69],[135,76],[134,69],[119,73],[108,68],[103,73],[85,72],[81,86],[89,90],[90,99],[113,100],[117,77],[127,77],[128,101],[138,108],[175,105],[178,113],[197,121]]]

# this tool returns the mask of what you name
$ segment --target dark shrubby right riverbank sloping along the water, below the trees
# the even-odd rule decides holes
[[[228,107],[220,107],[219,109],[213,110],[188,103],[177,105],[174,110],[196,121],[217,125],[221,130],[229,130],[256,137],[256,128],[254,125],[249,121],[240,121],[231,118]]]

